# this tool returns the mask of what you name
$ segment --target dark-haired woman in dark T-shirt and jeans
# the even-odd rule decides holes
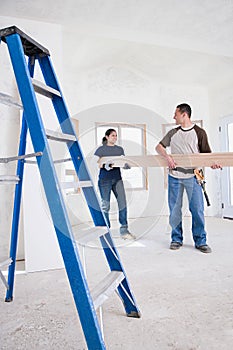
[[[124,156],[124,149],[120,146],[117,146],[115,144],[116,141],[116,130],[108,129],[105,132],[105,136],[102,140],[103,145],[95,151],[95,156],[98,156],[100,158]],[[120,235],[123,239],[135,239],[136,237],[128,231],[126,196],[120,168],[112,168],[111,166],[109,166],[109,164],[103,164],[103,167],[100,169],[99,172],[98,187],[102,199],[102,210],[105,214],[108,226],[110,227],[109,210],[112,191],[116,197],[118,204],[119,222],[121,225]]]

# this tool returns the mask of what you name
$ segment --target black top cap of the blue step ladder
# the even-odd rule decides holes
[[[4,42],[6,42],[6,36],[9,36],[12,34],[19,34],[25,55],[27,55],[27,56],[34,56],[34,55],[50,56],[48,49],[46,49],[44,46],[40,45],[38,42],[36,42],[34,39],[32,39],[30,36],[28,36],[24,32],[22,32],[22,30],[20,30],[16,26],[11,26],[11,27],[0,29],[0,38]]]

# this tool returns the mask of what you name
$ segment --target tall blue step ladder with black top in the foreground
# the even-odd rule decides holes
[[[5,301],[10,302],[13,300],[24,158],[27,157],[25,150],[27,132],[29,131],[51,218],[88,349],[105,349],[96,309],[101,306],[106,297],[113,291],[117,291],[123,302],[127,316],[139,318],[140,311],[130,290],[125,271],[111,237],[111,232],[101,210],[98,196],[93,187],[85,158],[83,157],[52,66],[49,51],[15,26],[0,30],[1,41],[6,43],[8,47],[23,107],[19,151],[18,157],[15,157],[18,161],[16,176],[19,178],[19,181],[15,185],[10,263]],[[26,60],[27,57],[28,62]],[[38,82],[33,78],[36,64],[42,72],[44,82]],[[46,132],[36,93],[51,99],[61,127],[61,133]],[[6,99],[9,102],[10,99],[8,97]],[[15,102],[12,103],[13,105],[17,105]],[[94,230],[92,229],[90,232],[90,240],[93,237],[100,240],[110,268],[109,274],[93,291],[89,289],[84,268],[79,257],[48,138],[65,142],[68,147],[79,184],[94,222]],[[85,243],[88,239],[88,234],[86,234],[84,237]]]

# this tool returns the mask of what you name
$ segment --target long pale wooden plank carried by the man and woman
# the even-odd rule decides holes
[[[233,166],[233,152],[172,154],[172,158],[180,167],[210,167],[214,164],[220,164],[223,167]],[[112,161],[113,167],[120,168],[125,163],[131,167],[167,167],[166,160],[160,155],[102,157],[99,164],[102,165],[107,161]]]

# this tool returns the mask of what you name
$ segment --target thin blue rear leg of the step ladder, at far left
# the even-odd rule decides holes
[[[28,60],[28,69],[30,76],[34,74],[35,65],[32,64],[31,60]],[[18,156],[24,155],[26,152],[26,140],[27,140],[27,123],[25,119],[25,113],[22,116],[22,125],[20,133],[20,143]],[[8,270],[8,290],[6,292],[6,302],[13,300],[13,289],[14,289],[14,277],[15,277],[15,265],[16,265],[16,254],[17,254],[17,244],[18,244],[18,234],[19,234],[19,218],[20,218],[20,205],[22,198],[22,187],[23,187],[23,174],[24,174],[24,160],[18,160],[17,172],[20,181],[15,187],[15,197],[14,197],[14,208],[12,217],[12,228],[11,228],[11,243],[10,243],[10,257],[12,263]]]

